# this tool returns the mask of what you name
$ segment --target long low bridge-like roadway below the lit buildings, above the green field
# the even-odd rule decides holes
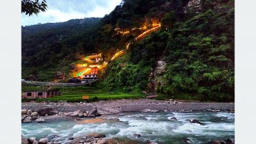
[[[81,85],[85,85],[85,84],[91,84],[91,83],[96,82],[96,81],[98,81],[98,79],[89,79],[85,82],[73,82],[73,83],[23,81],[22,84],[33,85],[33,86],[81,86]]]

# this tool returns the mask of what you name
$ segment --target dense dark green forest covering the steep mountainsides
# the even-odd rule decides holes
[[[158,98],[234,101],[234,0],[123,0],[104,18],[22,27],[22,77],[68,77],[82,55],[104,59],[142,30],[161,29],[111,62],[97,86],[106,91],[156,93]]]

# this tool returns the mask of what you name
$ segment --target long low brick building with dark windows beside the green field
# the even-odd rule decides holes
[[[35,90],[35,91],[24,91],[22,92],[22,98],[53,98],[53,96],[58,95],[57,90]]]

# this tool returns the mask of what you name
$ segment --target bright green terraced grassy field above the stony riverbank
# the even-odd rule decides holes
[[[120,92],[104,92],[95,86],[62,86],[54,87],[54,89],[62,92],[62,95],[54,96],[53,98],[46,99],[34,99],[35,101],[60,101],[66,100],[68,102],[75,101],[98,101],[107,99],[139,99],[143,98],[143,94],[132,93],[120,93]],[[47,87],[43,86],[24,86],[22,85],[22,91],[24,90],[47,90]],[[82,99],[82,96],[89,96],[88,100]],[[23,99],[28,101],[28,99]]]

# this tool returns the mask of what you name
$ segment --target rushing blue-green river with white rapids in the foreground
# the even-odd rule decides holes
[[[177,120],[170,120],[171,117]],[[194,124],[188,119],[198,119],[203,124]],[[24,137],[39,139],[57,134],[60,135],[58,139],[62,143],[68,141],[68,137],[93,132],[105,134],[106,137],[134,139],[140,142],[150,140],[157,143],[184,143],[184,139],[190,139],[189,143],[209,143],[213,139],[234,139],[234,113],[122,113],[82,120],[65,118],[45,123],[22,124]],[[134,134],[140,134],[141,137],[136,138]]]

